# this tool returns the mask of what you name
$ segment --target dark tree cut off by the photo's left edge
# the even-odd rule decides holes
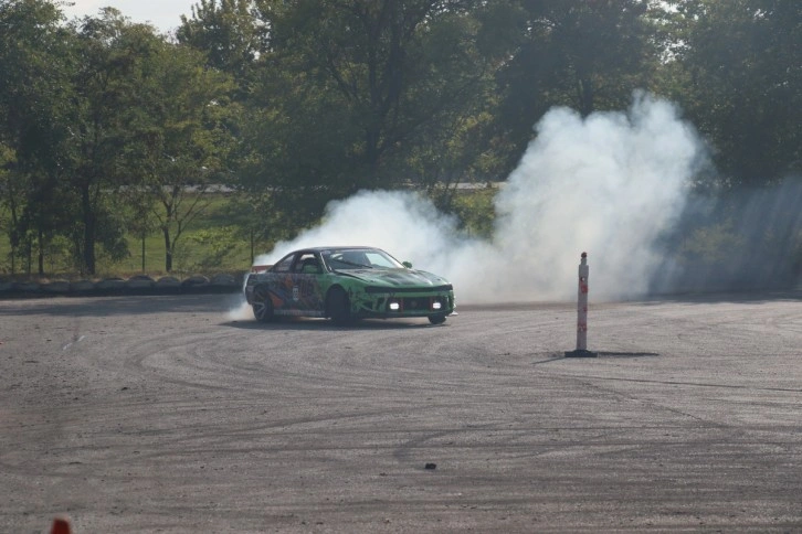
[[[21,245],[43,250],[67,218],[55,193],[64,168],[72,97],[72,34],[46,1],[0,3],[0,202],[9,212],[11,268]]]

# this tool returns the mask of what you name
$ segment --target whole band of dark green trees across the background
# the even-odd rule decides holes
[[[789,0],[201,0],[173,35],[107,8],[0,0],[1,229],[94,274],[159,232],[166,270],[210,184],[286,237],[361,189],[449,207],[504,179],[555,105],[679,103],[718,188],[800,173],[802,3]]]

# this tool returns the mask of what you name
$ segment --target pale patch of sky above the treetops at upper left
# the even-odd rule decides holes
[[[148,22],[160,32],[167,33],[181,24],[181,15],[189,17],[198,0],[67,0],[74,6],[64,6],[64,14],[74,17],[97,15],[101,8],[118,9],[131,22]]]

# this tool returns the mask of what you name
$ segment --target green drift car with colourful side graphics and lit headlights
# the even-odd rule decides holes
[[[327,317],[338,324],[425,317],[441,324],[454,312],[454,289],[445,279],[372,247],[296,250],[275,265],[254,266],[244,291],[262,322],[277,316]]]

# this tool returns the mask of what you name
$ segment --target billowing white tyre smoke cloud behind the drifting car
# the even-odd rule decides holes
[[[489,243],[461,235],[413,193],[361,192],[257,263],[305,246],[372,245],[449,278],[460,303],[513,302],[576,298],[588,252],[594,298],[644,293],[661,261],[655,242],[679,216],[701,156],[694,129],[674,105],[637,94],[629,113],[583,119],[556,108],[536,130],[497,195]]]

